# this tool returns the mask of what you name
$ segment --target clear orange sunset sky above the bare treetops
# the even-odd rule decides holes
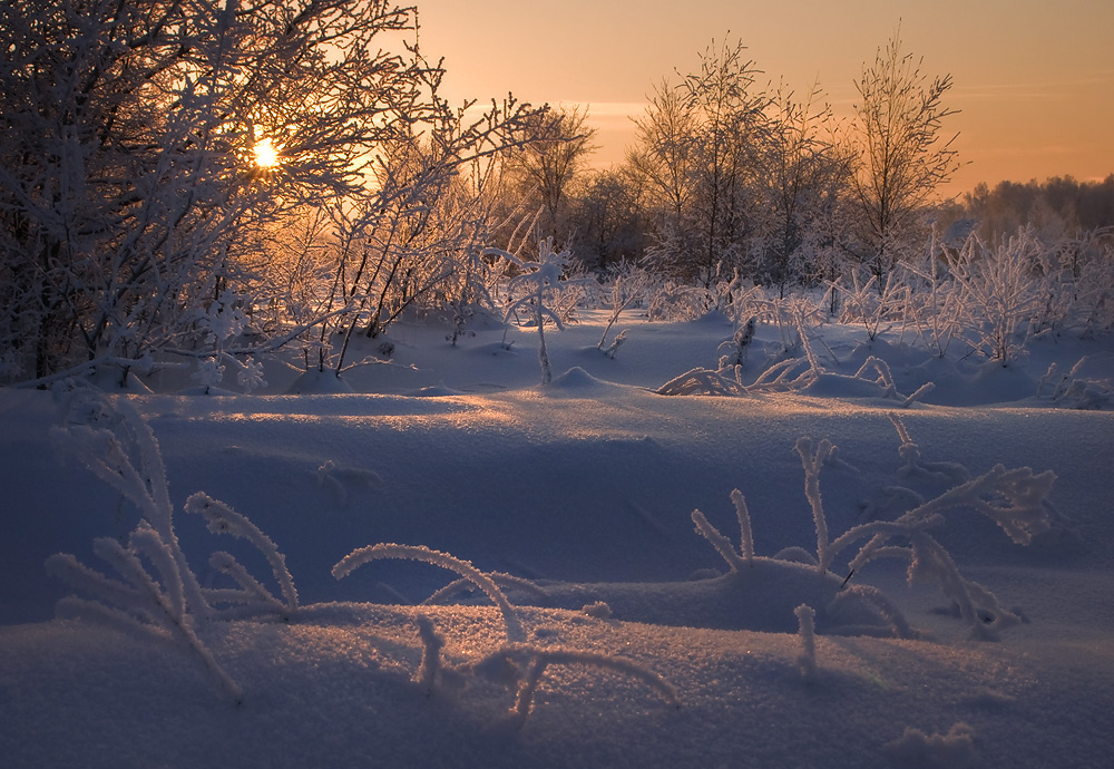
[[[741,40],[764,77],[799,94],[814,81],[850,115],[854,79],[900,23],[930,77],[950,74],[946,129],[969,162],[948,192],[978,182],[1114,173],[1112,0],[417,0],[427,56],[446,93],[586,104],[594,163],[633,142],[631,115],[713,39]],[[950,134],[949,134],[950,135]]]

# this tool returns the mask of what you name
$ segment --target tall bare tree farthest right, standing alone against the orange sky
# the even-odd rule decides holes
[[[862,220],[861,256],[879,286],[900,256],[918,212],[959,168],[958,134],[944,138],[951,76],[929,79],[922,59],[901,52],[900,29],[863,65],[852,132],[859,159],[853,177]]]

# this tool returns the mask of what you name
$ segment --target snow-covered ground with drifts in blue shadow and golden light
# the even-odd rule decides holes
[[[528,329],[450,347],[428,322],[393,327],[350,393],[275,366],[251,396],[168,395],[190,382],[167,376],[104,401],[114,422],[81,393],[0,391],[0,765],[1111,766],[1114,340],[1046,337],[1003,368],[825,325],[813,376],[763,388],[780,342],[760,327],[735,395],[671,397],[655,390],[715,368],[732,325],[616,328],[614,359],[592,313],[547,333],[546,387]],[[870,356],[885,373],[853,377]],[[152,519],[153,446],[125,446],[152,465],[150,526],[81,466],[113,461],[106,424],[140,444],[149,425],[188,570],[150,544],[170,523]],[[265,533],[293,583],[207,532],[197,491]],[[379,543],[480,574],[413,548],[342,562]],[[228,597],[218,551],[267,592]],[[56,553],[76,561],[48,570]],[[128,584],[121,553],[143,554]],[[361,555],[483,590],[423,605],[458,575]],[[98,610],[78,563],[146,620]],[[226,600],[183,613],[194,588]]]

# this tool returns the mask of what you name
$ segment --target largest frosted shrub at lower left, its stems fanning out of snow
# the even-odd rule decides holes
[[[166,469],[150,427],[124,399],[111,402],[86,388],[66,392],[65,398],[65,427],[52,432],[56,445],[131,502],[141,519],[126,545],[108,537],[94,541],[94,553],[117,576],[89,568],[68,554],[47,559],[50,574],[94,598],[71,596],[62,601],[60,610],[140,636],[175,639],[238,702],[242,689],[217,663],[198,630],[214,620],[240,616],[290,619],[297,611],[297,591],[285,559],[246,517],[204,494],[195,494],[187,500],[186,510],[205,515],[209,530],[233,534],[255,545],[271,564],[282,597],[270,593],[235,557],[223,552],[214,553],[209,563],[237,587],[203,588],[174,530]]]

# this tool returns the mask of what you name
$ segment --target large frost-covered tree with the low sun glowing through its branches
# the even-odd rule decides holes
[[[248,317],[282,304],[261,267],[276,228],[367,202],[389,148],[446,135],[457,116],[436,95],[442,74],[418,49],[416,10],[385,0],[0,6],[8,378],[212,357],[203,319],[218,298]],[[409,222],[429,197],[416,186],[437,193],[456,175],[456,147],[427,147],[403,193],[377,188],[381,210],[412,201]],[[274,319],[285,328],[263,347],[320,320],[311,305]],[[224,352],[261,348],[234,341]]]

